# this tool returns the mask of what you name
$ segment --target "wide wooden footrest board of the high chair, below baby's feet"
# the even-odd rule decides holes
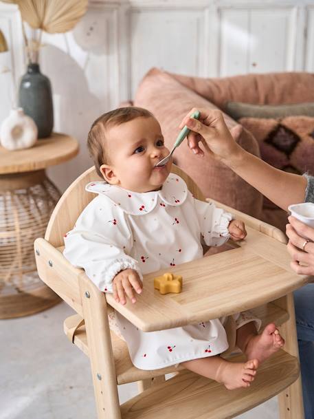
[[[184,370],[125,402],[121,406],[122,419],[234,418],[280,393],[298,375],[297,358],[283,350],[261,365],[247,389],[227,390],[213,380]]]

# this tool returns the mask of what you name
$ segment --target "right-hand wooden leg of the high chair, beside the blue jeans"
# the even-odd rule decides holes
[[[290,316],[289,321],[280,326],[280,334],[286,341],[284,351],[299,358],[293,294],[287,294],[274,302],[280,308],[287,310]],[[278,394],[278,402],[280,419],[304,419],[301,376],[290,387]]]

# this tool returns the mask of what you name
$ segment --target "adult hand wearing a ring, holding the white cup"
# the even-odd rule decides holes
[[[306,226],[295,217],[288,217],[286,233],[287,250],[292,257],[291,268],[299,275],[314,275],[314,228]],[[306,242],[306,239],[309,239]],[[301,265],[300,265],[301,264]]]

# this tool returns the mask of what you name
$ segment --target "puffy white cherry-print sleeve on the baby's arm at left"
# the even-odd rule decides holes
[[[123,270],[133,270],[142,279],[138,262],[128,256],[132,246],[133,236],[124,213],[99,196],[65,235],[63,254],[72,265],[85,269],[100,291],[113,292],[113,279]]]

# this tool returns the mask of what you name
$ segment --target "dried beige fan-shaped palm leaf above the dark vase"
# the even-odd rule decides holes
[[[49,34],[64,33],[74,28],[85,14],[88,0],[2,0],[16,3],[23,21],[33,29]]]

